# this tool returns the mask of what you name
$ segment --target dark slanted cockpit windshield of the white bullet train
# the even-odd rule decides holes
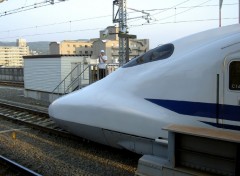
[[[136,58],[133,58],[128,63],[123,65],[123,68],[133,67],[133,66],[145,64],[148,62],[166,59],[173,54],[173,51],[174,51],[174,45],[171,43],[159,46],[157,48],[149,50],[148,52]]]

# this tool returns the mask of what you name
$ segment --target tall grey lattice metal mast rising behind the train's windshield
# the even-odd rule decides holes
[[[118,7],[115,11],[115,7]],[[127,5],[126,0],[113,1],[113,23],[119,23],[119,64],[122,66],[126,63],[126,47],[127,42]]]

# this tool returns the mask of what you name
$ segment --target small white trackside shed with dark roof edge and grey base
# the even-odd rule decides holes
[[[55,93],[64,94],[89,62],[89,57],[79,55],[24,56],[24,96],[51,102],[53,90],[59,83],[65,80]],[[75,69],[76,66],[79,67]],[[89,84],[88,76],[84,75],[81,84]]]

